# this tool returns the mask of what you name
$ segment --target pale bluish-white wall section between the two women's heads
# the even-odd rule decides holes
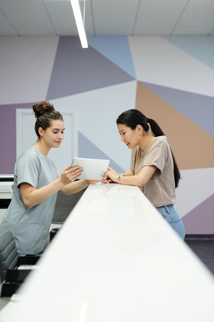
[[[52,99],[55,109],[71,106],[79,111],[79,131],[123,169],[131,167],[131,150],[120,140],[116,118],[135,108],[136,81]]]

